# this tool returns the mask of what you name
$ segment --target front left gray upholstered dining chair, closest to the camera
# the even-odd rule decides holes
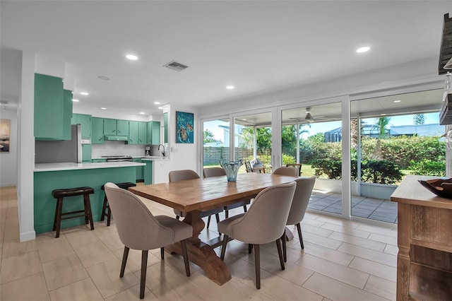
[[[160,256],[164,259],[164,247],[168,244],[181,242],[186,276],[190,276],[185,240],[193,236],[191,225],[169,216],[153,216],[153,213],[138,199],[138,196],[126,189],[117,187],[116,184],[109,182],[104,187],[109,206],[114,214],[114,223],[119,239],[124,244],[119,277],[124,276],[129,249],[142,251],[140,299],[144,297],[148,250],[150,249],[160,248]]]

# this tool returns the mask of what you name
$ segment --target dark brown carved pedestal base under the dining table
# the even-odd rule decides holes
[[[209,244],[201,242],[198,235],[204,228],[204,222],[199,216],[198,211],[191,211],[186,214],[184,223],[188,223],[193,227],[194,236],[187,239],[186,250],[189,256],[189,261],[200,266],[205,272],[206,276],[218,285],[223,285],[231,280],[231,273],[224,261],[218,257],[213,251],[213,247]],[[169,244],[165,246],[165,250],[169,253],[177,253],[182,255],[182,247],[180,242]]]

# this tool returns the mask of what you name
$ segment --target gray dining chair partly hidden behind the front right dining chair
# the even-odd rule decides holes
[[[304,218],[304,213],[308,208],[309,199],[311,198],[312,189],[314,188],[314,183],[316,182],[316,177],[300,177],[295,179],[297,183],[297,189],[295,189],[294,199],[292,201],[292,206],[290,207],[289,217],[287,218],[286,225],[296,225],[298,230],[299,244],[302,249],[304,249],[302,226],[300,223]],[[285,241],[287,239],[284,234],[281,237],[283,240],[283,255],[284,261],[287,261],[287,249],[285,246]]]

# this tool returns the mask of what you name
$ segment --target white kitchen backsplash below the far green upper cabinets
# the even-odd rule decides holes
[[[91,145],[91,157],[100,158],[104,155],[144,155],[144,148],[145,146],[143,145],[125,144],[124,141],[104,141],[103,144]]]

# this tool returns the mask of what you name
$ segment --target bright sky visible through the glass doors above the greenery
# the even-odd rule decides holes
[[[402,116],[389,116],[389,126],[400,126],[400,125],[412,125],[415,124],[413,122],[414,114],[410,115],[402,115]],[[439,113],[426,113],[425,116],[425,124],[439,124]],[[375,124],[376,118],[366,118],[363,119],[367,124]],[[217,140],[224,142],[223,139],[223,130],[220,128],[220,125],[229,126],[227,122],[222,122],[220,120],[213,120],[209,122],[204,122],[204,131],[208,129],[211,131]],[[340,127],[340,121],[338,122],[314,122],[309,126],[305,126],[304,129],[307,130],[307,134],[303,135],[303,138],[307,138],[308,136],[315,135],[317,133],[325,133],[326,131],[331,131],[332,129],[337,129]]]

